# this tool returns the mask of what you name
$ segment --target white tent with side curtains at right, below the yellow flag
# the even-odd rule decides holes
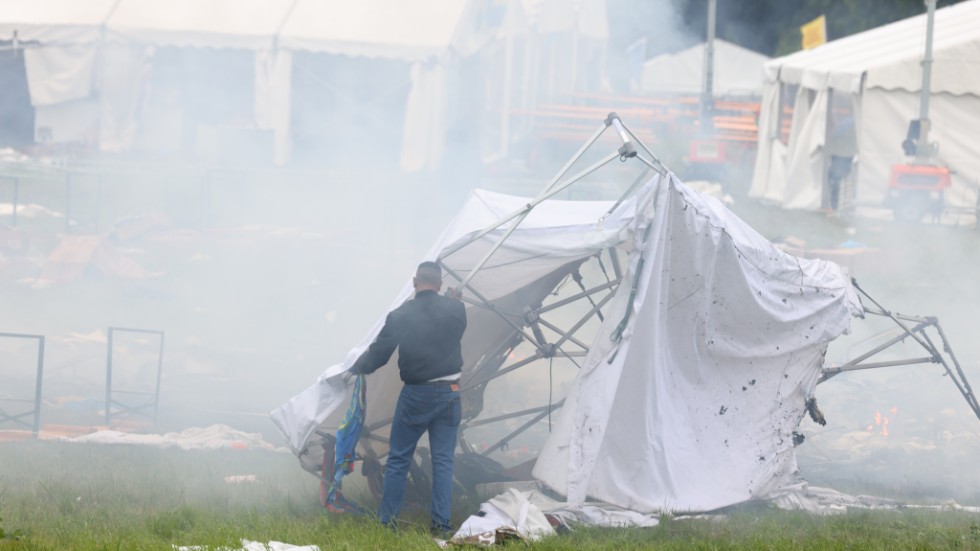
[[[830,155],[849,142],[856,149],[838,154],[854,157],[858,204],[882,204],[891,166],[905,161],[909,121],[918,118],[925,39],[923,14],[767,63],[749,194],[786,208],[826,205]],[[939,143],[937,162],[955,171],[947,205],[973,208],[980,182],[980,0],[936,11],[933,56],[930,141]]]

